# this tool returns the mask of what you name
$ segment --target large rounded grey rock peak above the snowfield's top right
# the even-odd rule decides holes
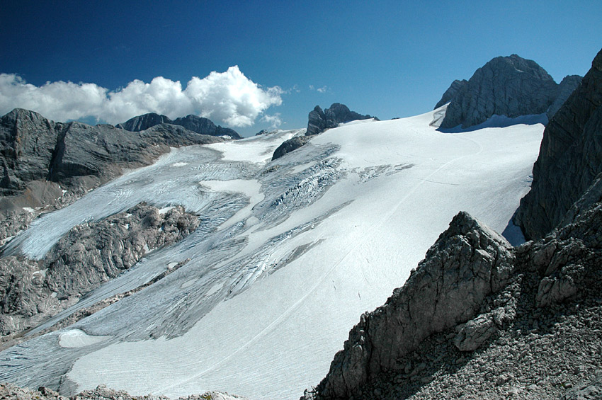
[[[551,117],[578,84],[579,76],[556,84],[536,62],[518,55],[496,57],[468,81],[453,81],[435,108],[450,102],[441,129],[472,127],[493,115]]]

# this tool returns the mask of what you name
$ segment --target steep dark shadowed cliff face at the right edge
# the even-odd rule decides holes
[[[562,221],[602,172],[602,50],[543,132],[533,184],[515,223],[538,239]]]

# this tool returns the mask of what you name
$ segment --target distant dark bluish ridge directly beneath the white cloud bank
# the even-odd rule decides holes
[[[220,125],[216,126],[212,120],[192,114],[186,115],[186,117],[180,117],[176,118],[175,120],[171,120],[166,115],[148,113],[130,118],[129,120],[116,125],[116,127],[129,130],[131,132],[140,132],[141,130],[147,130],[150,127],[154,127],[155,125],[159,124],[179,125],[185,127],[191,132],[199,133],[200,135],[229,136],[232,137],[232,139],[242,139],[242,137],[235,130],[227,127],[221,127]]]

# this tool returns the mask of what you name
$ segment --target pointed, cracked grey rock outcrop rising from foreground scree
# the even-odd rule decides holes
[[[361,316],[319,394],[346,399],[371,376],[397,367],[397,358],[431,334],[472,319],[483,299],[509,280],[510,248],[470,215],[456,215],[405,285],[384,306]]]

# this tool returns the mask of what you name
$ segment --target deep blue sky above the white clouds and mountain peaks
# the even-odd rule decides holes
[[[246,114],[229,117],[217,110],[220,86],[188,108],[168,108],[198,110],[210,101],[212,120],[251,135],[275,117],[282,129],[305,127],[314,105],[334,102],[381,119],[424,113],[451,81],[469,79],[499,55],[534,59],[560,81],[585,74],[602,47],[599,0],[156,3],[4,0],[0,73],[13,86],[4,93],[0,86],[0,105],[23,99],[11,90],[25,83],[83,82],[95,84],[89,90],[115,92],[157,76],[170,85],[180,81],[183,89],[193,76],[203,88],[233,79],[246,88],[259,85],[260,105],[252,98]],[[246,78],[231,70],[204,79],[235,65]],[[274,86],[280,90],[267,93]],[[73,87],[55,89],[86,103],[69,94]],[[112,118],[127,115],[120,105],[137,92],[132,86],[128,93],[113,106]],[[91,113],[98,114],[104,105],[94,104]],[[67,103],[55,115],[69,115],[70,108],[76,105]]]

